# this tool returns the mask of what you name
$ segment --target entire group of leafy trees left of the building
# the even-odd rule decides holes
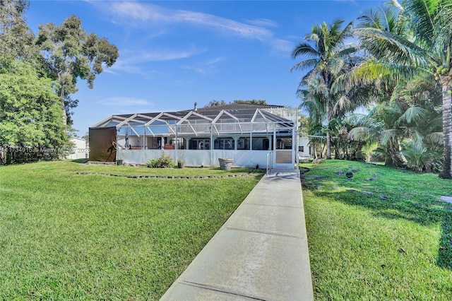
[[[0,0],[1,163],[5,151],[9,163],[59,158],[70,145],[78,79],[93,88],[97,74],[119,55],[107,38],[87,34],[77,16],[40,25],[35,37],[25,22],[28,5]]]

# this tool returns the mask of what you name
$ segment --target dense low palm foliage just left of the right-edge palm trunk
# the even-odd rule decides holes
[[[349,132],[350,139],[379,143],[376,153],[384,156],[386,165],[420,167],[411,162],[417,153],[418,158],[431,161],[422,165],[426,170],[438,171],[437,154],[441,153],[444,140],[439,133],[441,93],[431,83],[430,78],[415,78],[391,88],[391,95],[381,90],[369,114],[347,117],[355,124]],[[419,153],[420,150],[423,151]]]

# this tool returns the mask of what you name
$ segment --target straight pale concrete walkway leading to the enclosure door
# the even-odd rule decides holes
[[[161,300],[313,300],[295,170],[264,176]]]

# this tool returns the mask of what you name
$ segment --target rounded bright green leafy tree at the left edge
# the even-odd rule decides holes
[[[23,62],[0,69],[0,141],[17,160],[58,158],[69,145],[52,81]]]

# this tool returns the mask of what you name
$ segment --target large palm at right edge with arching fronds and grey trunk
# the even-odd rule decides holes
[[[406,0],[398,10],[400,32],[365,26],[356,33],[374,55],[357,76],[399,82],[430,73],[441,87],[444,164],[441,177],[452,179],[452,1]]]

